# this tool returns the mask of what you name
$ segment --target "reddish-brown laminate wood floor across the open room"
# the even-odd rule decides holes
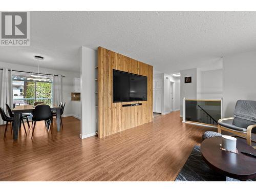
[[[180,112],[115,135],[80,139],[80,121],[63,118],[64,128],[52,134],[38,122],[25,135],[4,140],[0,126],[1,181],[173,181],[203,132],[214,130],[181,122]],[[27,128],[28,129],[28,128]]]

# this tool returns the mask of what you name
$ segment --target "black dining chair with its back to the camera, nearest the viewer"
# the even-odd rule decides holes
[[[34,135],[35,125],[37,121],[47,121],[48,129],[51,129],[50,119],[52,118],[51,108],[47,104],[37,105],[33,111],[32,120],[34,122],[32,136]]]

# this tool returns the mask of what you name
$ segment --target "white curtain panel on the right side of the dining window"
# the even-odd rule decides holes
[[[62,101],[62,78],[61,75],[53,76],[53,104],[58,105]]]

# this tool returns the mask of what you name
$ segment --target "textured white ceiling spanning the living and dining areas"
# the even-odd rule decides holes
[[[0,47],[0,60],[79,71],[79,47],[98,46],[160,72],[215,65],[221,56],[256,49],[256,12],[31,12],[30,47]],[[218,64],[219,65],[219,64]]]

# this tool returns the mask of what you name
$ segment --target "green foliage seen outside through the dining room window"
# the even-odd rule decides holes
[[[27,90],[25,91],[24,98],[35,98],[35,82],[28,81]],[[36,101],[42,101],[45,104],[52,104],[52,83],[50,82],[36,82]],[[40,99],[45,98],[45,99]],[[46,99],[48,98],[48,99]],[[33,104],[34,99],[29,101],[29,104]]]

